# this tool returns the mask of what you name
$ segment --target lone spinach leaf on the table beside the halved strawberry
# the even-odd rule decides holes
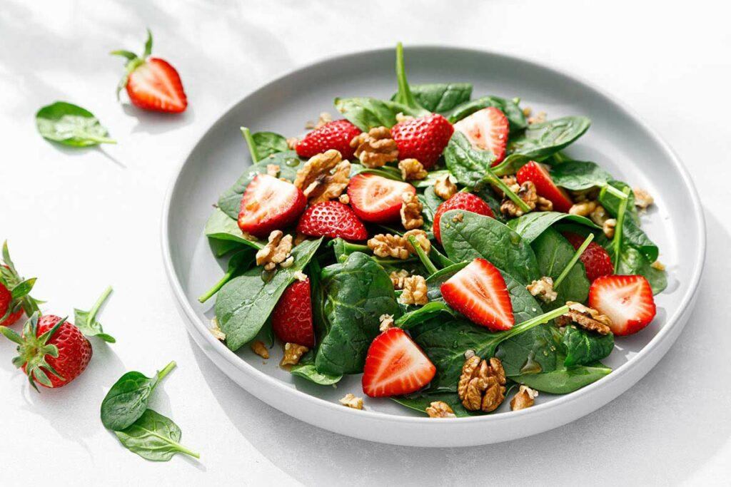
[[[116,144],[93,113],[66,101],[42,107],[36,113],[36,127],[44,139],[72,147]]]

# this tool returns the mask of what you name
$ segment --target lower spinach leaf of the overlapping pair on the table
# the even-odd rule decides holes
[[[173,420],[148,409],[131,426],[114,432],[125,448],[143,459],[168,461],[175,453],[200,458],[198,453],[180,444],[181,429]]]

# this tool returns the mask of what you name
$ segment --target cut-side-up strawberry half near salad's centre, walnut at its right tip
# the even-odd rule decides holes
[[[416,194],[416,188],[409,183],[368,173],[355,175],[348,185],[348,198],[355,214],[374,223],[401,218],[401,195],[406,192]]]

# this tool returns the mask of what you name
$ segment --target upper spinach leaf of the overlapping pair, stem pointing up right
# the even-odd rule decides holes
[[[105,428],[120,431],[135,423],[145,413],[150,395],[160,381],[175,368],[167,364],[154,377],[140,372],[127,372],[114,383],[102,401],[102,423]]]

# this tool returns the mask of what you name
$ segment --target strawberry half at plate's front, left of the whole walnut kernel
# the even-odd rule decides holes
[[[363,392],[371,397],[401,396],[426,386],[436,367],[400,328],[379,334],[371,343],[363,367]]]

